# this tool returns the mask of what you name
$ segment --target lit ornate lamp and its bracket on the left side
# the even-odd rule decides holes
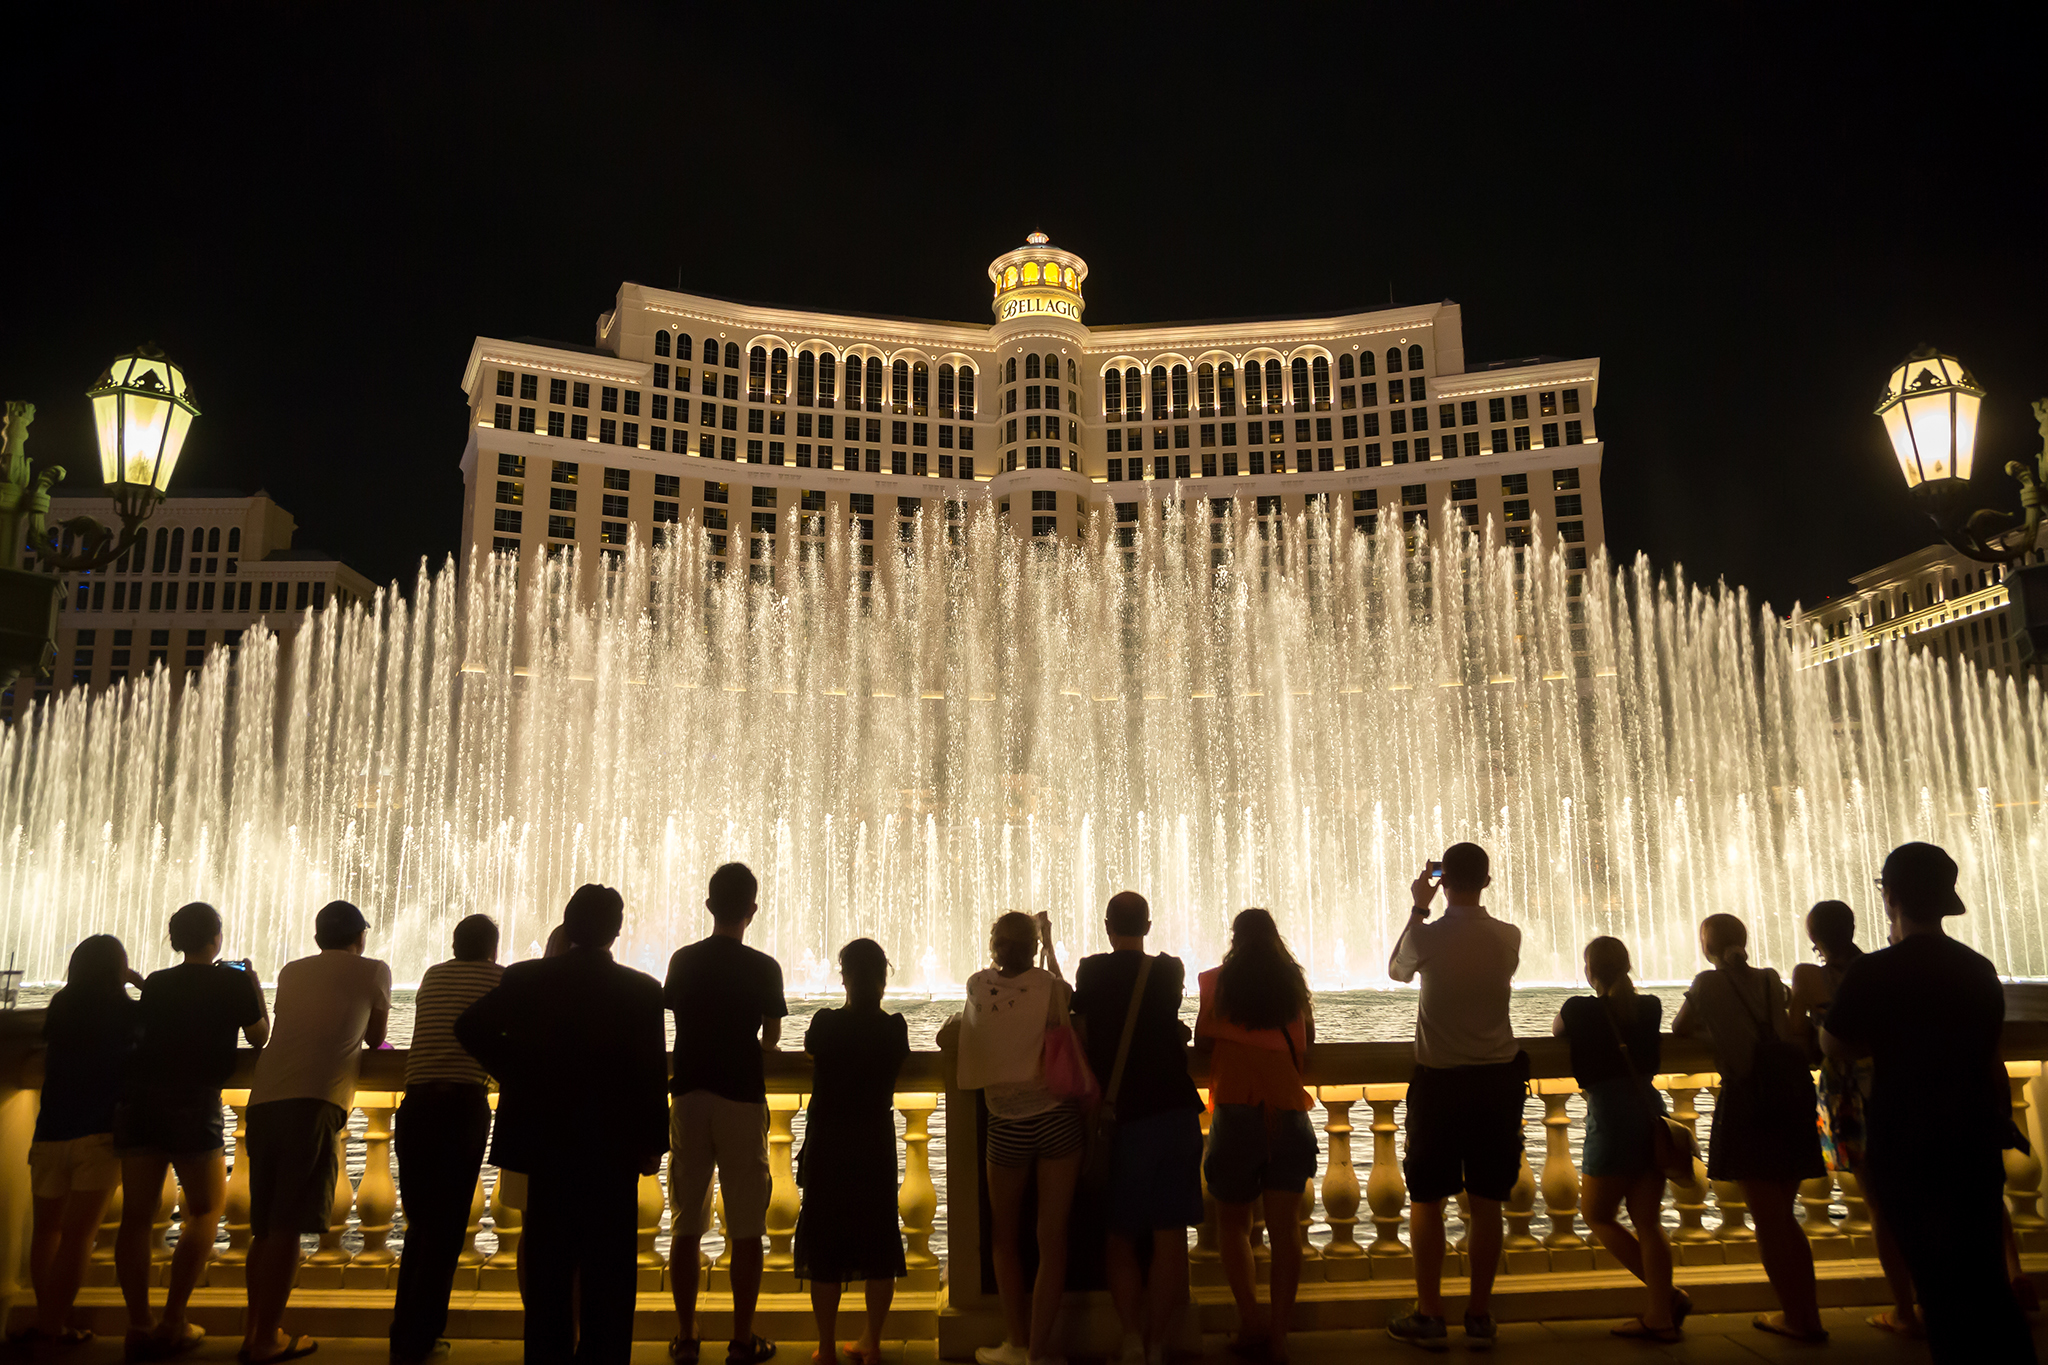
[[[61,465],[41,473],[29,467],[25,446],[35,403],[8,403],[0,434],[0,690],[25,671],[47,671],[57,649],[57,602],[63,579],[16,567],[16,555],[72,573],[98,569],[125,555],[143,536],[199,405],[184,370],[154,346],[117,356],[86,391],[100,444],[100,479],[115,501],[121,530],[90,516],[49,526],[49,489],[63,479]]]

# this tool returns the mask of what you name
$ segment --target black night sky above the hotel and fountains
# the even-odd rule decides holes
[[[1599,356],[1610,548],[1778,606],[1931,540],[1890,362],[1989,387],[1982,501],[2048,395],[2042,33],[1993,10],[63,8],[0,115],[31,456],[96,487],[82,391],[156,340],[178,485],[373,579],[455,546],[475,336],[588,344],[625,278],[987,321],[1032,229],[1098,323],[1448,297],[1473,364]]]

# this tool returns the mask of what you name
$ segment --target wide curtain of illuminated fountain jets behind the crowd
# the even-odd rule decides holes
[[[1104,514],[1057,548],[987,503],[920,518],[872,602],[850,528],[778,536],[772,587],[713,577],[694,524],[616,569],[422,565],[289,647],[215,647],[182,692],[162,669],[63,692],[0,735],[0,954],[51,980],[113,931],[158,966],[197,898],[268,976],[344,896],[416,980],[473,911],[539,954],[598,880],[627,896],[621,960],[659,974],[741,860],[793,990],[836,988],[838,945],[872,935],[897,988],[956,993],[1006,909],[1100,950],[1124,886],[1190,968],[1266,905],[1319,988],[1372,986],[1409,880],[1477,839],[1522,980],[1575,980],[1595,933],[1679,980],[1712,911],[1778,966],[1821,898],[1882,939],[1870,878],[1931,839],[1960,935],[2048,970],[2032,679],[1898,647],[1804,667],[1804,630],[1743,591],[1599,553],[1571,596],[1540,528],[1411,548],[1159,505],[1128,548]],[[608,589],[580,604],[578,573]]]

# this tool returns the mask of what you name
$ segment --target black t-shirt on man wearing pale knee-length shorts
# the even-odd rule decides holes
[[[713,933],[668,960],[662,1003],[676,1011],[672,1095],[711,1091],[743,1105],[768,1101],[760,1031],[762,1019],[788,1013],[780,962]]]

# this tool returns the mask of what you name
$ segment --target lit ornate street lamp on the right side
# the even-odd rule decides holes
[[[2007,460],[2019,481],[2019,516],[1991,508],[1968,510],[1970,469],[1976,456],[1976,413],[1985,389],[1962,360],[1921,346],[1892,366],[1876,415],[1898,456],[1907,489],[1960,555],[2007,567],[2007,593],[2019,618],[2019,659],[2048,659],[2048,565],[2030,565],[2040,538],[2044,485],[2048,485],[2048,399],[2034,401],[2042,452],[2034,465]]]

